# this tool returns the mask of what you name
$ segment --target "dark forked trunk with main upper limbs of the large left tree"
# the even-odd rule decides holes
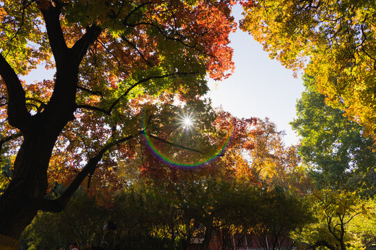
[[[56,6],[49,1],[46,3],[49,6],[41,8],[40,11],[45,19],[49,44],[56,62],[56,82],[52,97],[42,113],[29,114],[22,84],[6,58],[0,54],[0,76],[6,83],[9,99],[8,121],[24,136],[24,142],[15,159],[12,181],[0,197],[0,236],[5,235],[16,240],[38,210],[45,209],[43,197],[47,190],[49,159],[58,135],[64,126],[75,118],[73,114],[76,109],[79,63],[102,31],[96,25],[88,27],[85,35],[68,49],[59,19],[61,4],[59,1],[54,2]],[[100,156],[88,163],[92,166],[91,169],[95,169]],[[70,193],[75,192],[85,174],[86,172],[82,173],[77,179],[74,187],[70,188]],[[65,195],[66,202],[70,197],[70,194]],[[61,209],[61,206],[54,211]]]

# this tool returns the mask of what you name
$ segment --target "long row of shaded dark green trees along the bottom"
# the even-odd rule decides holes
[[[40,212],[24,231],[21,249],[51,249],[71,241],[97,244],[110,218],[118,224],[120,249],[187,249],[197,238],[203,239],[201,249],[236,250],[244,244],[241,236],[250,240],[250,233],[263,241],[267,235],[268,246],[280,249],[290,231],[309,221],[301,197],[201,173],[173,182],[141,179],[120,190],[111,209],[80,190],[67,213]]]

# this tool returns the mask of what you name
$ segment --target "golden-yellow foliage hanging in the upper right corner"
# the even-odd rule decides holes
[[[374,1],[252,1],[244,14],[241,28],[270,57],[295,71],[305,68],[331,107],[375,136]]]

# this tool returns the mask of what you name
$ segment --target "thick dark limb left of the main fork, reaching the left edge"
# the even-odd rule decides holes
[[[8,121],[11,126],[25,131],[31,115],[26,109],[25,91],[12,67],[0,53],[0,76],[8,92]]]

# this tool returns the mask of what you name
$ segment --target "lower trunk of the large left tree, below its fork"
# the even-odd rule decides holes
[[[46,134],[43,127],[24,137],[13,180],[0,197],[1,235],[18,239],[38,212],[47,189],[47,167],[56,138]]]

